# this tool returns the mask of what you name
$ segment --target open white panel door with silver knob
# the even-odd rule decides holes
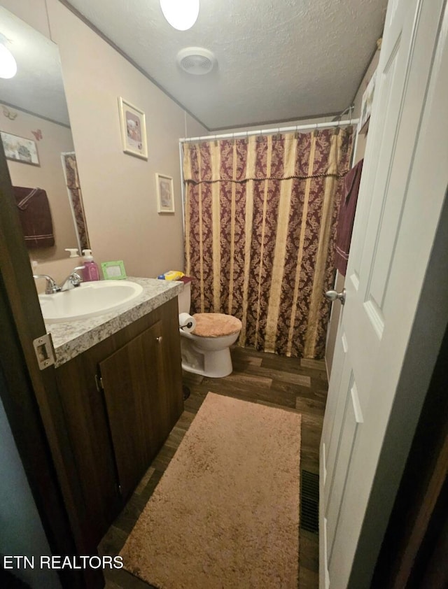
[[[444,0],[389,2],[321,440],[321,589],[349,586],[447,190],[447,25]]]

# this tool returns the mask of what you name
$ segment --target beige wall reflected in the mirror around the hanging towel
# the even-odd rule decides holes
[[[39,187],[46,191],[55,234],[54,246],[31,249],[29,255],[31,259],[38,261],[66,257],[64,248],[76,248],[78,245],[61,162],[62,152],[73,151],[71,131],[18,108],[10,110],[15,111],[17,116],[14,120],[2,117],[1,131],[36,141],[39,158],[38,166],[8,160],[11,182],[14,186]],[[37,129],[42,132],[40,141],[35,140],[31,133]]]

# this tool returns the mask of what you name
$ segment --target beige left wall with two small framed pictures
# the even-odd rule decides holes
[[[47,0],[48,25],[43,0],[1,3],[59,47],[94,259],[123,260],[128,276],[183,269],[178,140],[207,129],[58,0]],[[148,161],[123,152],[118,97],[146,113]],[[174,180],[174,214],[157,213],[155,172]],[[38,271],[61,280],[71,267],[51,262]]]

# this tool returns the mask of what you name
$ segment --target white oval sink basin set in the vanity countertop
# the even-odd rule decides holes
[[[76,288],[39,295],[43,319],[50,323],[103,315],[127,305],[143,292],[130,281],[85,282]]]

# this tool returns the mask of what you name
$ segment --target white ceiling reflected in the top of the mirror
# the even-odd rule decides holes
[[[14,78],[0,78],[0,102],[69,125],[57,45],[2,6],[0,33],[18,64]]]

